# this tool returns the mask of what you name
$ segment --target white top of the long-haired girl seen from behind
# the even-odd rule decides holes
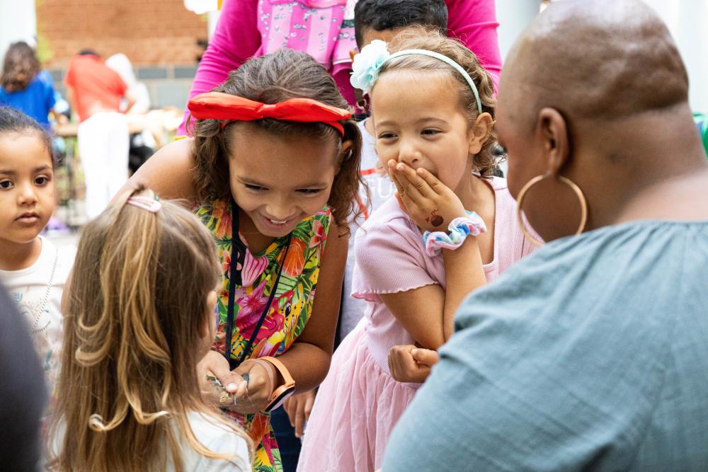
[[[181,447],[182,465],[185,472],[251,471],[249,445],[246,444],[246,439],[201,413],[193,411],[188,413],[188,418],[189,425],[199,442],[216,454],[229,454],[232,455],[232,458],[228,460],[210,459],[202,456],[192,449],[185,439],[183,447]],[[64,444],[65,432],[64,423],[59,424],[57,434],[50,443],[52,453],[55,455],[59,454],[60,447]],[[166,464],[164,470],[174,471],[174,464]]]

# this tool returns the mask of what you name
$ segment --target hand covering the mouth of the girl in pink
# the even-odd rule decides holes
[[[406,163],[388,162],[399,202],[421,231],[445,231],[455,218],[467,217],[455,192],[424,168],[413,170]]]

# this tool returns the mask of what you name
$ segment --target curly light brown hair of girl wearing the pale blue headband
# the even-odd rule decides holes
[[[447,38],[440,34],[436,29],[421,26],[411,25],[406,27],[401,33],[397,34],[394,39],[389,42],[389,51],[393,54],[397,51],[422,49],[437,52],[444,56],[450,57],[457,62],[462,69],[467,71],[479,92],[481,100],[482,113],[489,113],[494,119],[494,108],[496,100],[494,98],[494,83],[489,75],[489,72],[479,64],[474,52],[464,47],[461,42],[452,38]],[[477,102],[474,98],[472,88],[455,69],[452,69],[448,64],[433,57],[423,56],[420,54],[403,56],[393,59],[384,65],[381,74],[386,71],[414,69],[417,71],[445,71],[450,74],[458,86],[459,100],[462,108],[467,112],[469,122],[474,123],[479,112],[477,111]],[[492,127],[486,141],[482,145],[482,149],[474,156],[474,168],[479,172],[481,177],[491,178],[494,169],[498,167],[498,159],[494,155],[497,137],[496,129]]]

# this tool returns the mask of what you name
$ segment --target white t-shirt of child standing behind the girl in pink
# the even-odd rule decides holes
[[[361,173],[362,177],[369,186],[371,193],[370,207],[367,208],[367,214],[372,213],[380,207],[383,202],[388,200],[396,192],[394,183],[389,179],[384,171],[377,168],[379,164],[379,156],[376,154],[376,139],[366,129],[366,122],[371,118],[357,123],[361,132],[362,147],[361,147]],[[359,191],[360,201],[366,204],[366,192],[361,189]],[[349,225],[351,231],[349,236],[349,253],[347,255],[347,264],[344,272],[344,297],[342,303],[342,321],[339,329],[339,334],[342,339],[354,329],[359,320],[364,316],[366,302],[355,299],[350,296],[352,287],[352,272],[354,270],[354,236],[359,226],[364,223],[364,218],[361,217],[358,221]]]

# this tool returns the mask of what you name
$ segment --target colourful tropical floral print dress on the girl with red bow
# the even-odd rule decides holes
[[[195,209],[215,237],[219,260],[224,270],[217,301],[217,335],[213,349],[224,352],[227,310],[229,306],[229,264],[232,246],[232,213],[229,200],[214,200]],[[282,261],[282,274],[276,288],[270,313],[253,343],[250,357],[278,356],[287,351],[304,330],[312,314],[312,301],[319,277],[319,264],[327,240],[331,211],[324,207],[312,217],[300,221],[292,231],[290,249]],[[243,241],[244,238],[241,238]],[[245,241],[244,241],[245,243]],[[256,328],[285,254],[287,236],[277,238],[261,253],[246,251],[241,269],[243,286],[236,288],[234,297],[234,330],[232,352],[239,359]],[[244,427],[257,444],[253,471],[282,471],[280,451],[270,427],[270,413],[241,415],[229,412]]]

